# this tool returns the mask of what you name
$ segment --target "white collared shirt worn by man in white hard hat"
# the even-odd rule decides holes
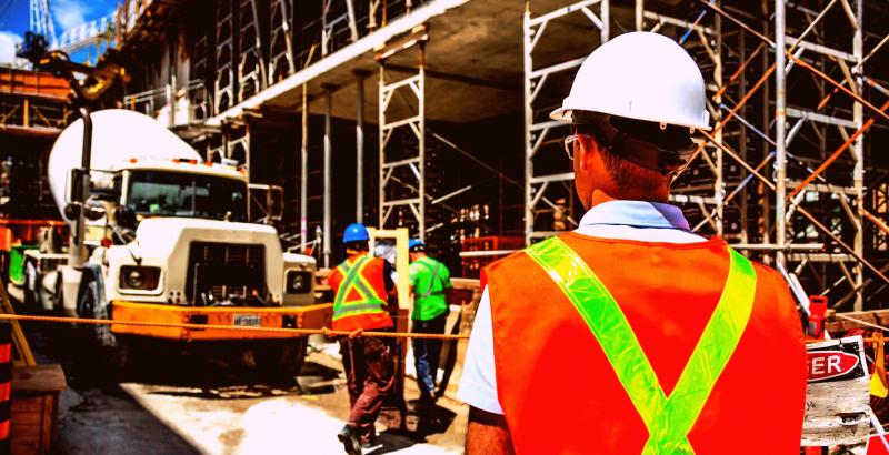
[[[596,205],[583,215],[575,232],[599,239],[641,242],[707,241],[690,231],[681,209],[645,201],[609,201]],[[491,299],[487,287],[482,291],[479,309],[476,312],[457,396],[479,410],[503,414],[497,395]]]

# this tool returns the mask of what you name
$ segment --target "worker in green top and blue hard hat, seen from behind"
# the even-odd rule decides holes
[[[453,285],[448,267],[426,255],[426,244],[413,239],[410,250],[410,290],[413,295],[411,314],[413,333],[444,333],[448,320],[448,294]],[[417,383],[420,402],[434,403],[436,376],[441,357],[441,340],[413,338],[413,360],[417,366]]]

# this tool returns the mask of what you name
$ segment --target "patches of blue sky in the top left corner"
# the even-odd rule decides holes
[[[116,0],[49,0],[56,36],[114,11]],[[0,63],[11,62],[16,43],[30,28],[29,0],[0,0]]]

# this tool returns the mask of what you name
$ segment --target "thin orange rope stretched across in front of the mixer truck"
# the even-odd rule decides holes
[[[287,333],[292,335],[327,335],[327,336],[349,336],[351,338],[360,336],[376,336],[382,338],[418,338],[418,340],[468,340],[469,335],[449,335],[438,333],[410,333],[410,332],[382,332],[382,331],[334,331],[332,328],[292,328],[292,327],[253,327],[244,325],[217,325],[217,324],[189,324],[172,322],[149,322],[149,321],[114,321],[114,320],[92,320],[86,317],[62,317],[62,316],[36,316],[29,314],[0,314],[0,321],[34,321],[50,322],[57,324],[92,324],[92,325],[134,325],[141,327],[167,327],[167,328],[190,328],[190,330],[221,330],[236,332],[263,332],[263,333]]]

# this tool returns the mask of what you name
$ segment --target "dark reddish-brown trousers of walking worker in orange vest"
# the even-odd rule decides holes
[[[340,340],[342,365],[349,386],[349,425],[367,441],[387,395],[394,388],[392,340],[361,336]]]

